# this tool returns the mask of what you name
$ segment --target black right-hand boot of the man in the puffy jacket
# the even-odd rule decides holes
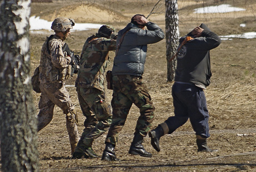
[[[147,152],[144,149],[142,142],[143,142],[143,136],[140,135],[140,133],[136,133],[134,135],[134,139],[132,140],[129,154],[140,155],[140,156],[144,156],[144,157],[151,157],[152,154]]]

